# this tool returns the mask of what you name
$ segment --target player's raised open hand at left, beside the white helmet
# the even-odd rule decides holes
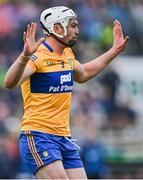
[[[40,38],[37,42],[35,41],[35,34],[37,30],[37,24],[31,23],[31,25],[27,25],[26,32],[23,33],[24,47],[23,47],[23,55],[30,56],[32,55],[39,45],[42,43],[43,38]]]

